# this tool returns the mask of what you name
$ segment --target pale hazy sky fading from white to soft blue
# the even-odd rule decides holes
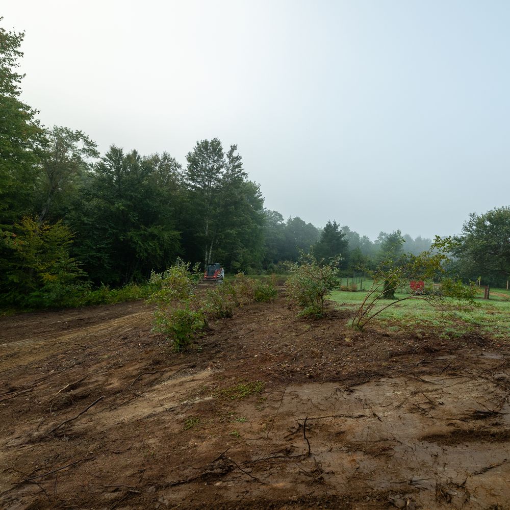
[[[508,205],[506,0],[17,0],[22,99],[102,152],[237,143],[265,207],[374,239]]]

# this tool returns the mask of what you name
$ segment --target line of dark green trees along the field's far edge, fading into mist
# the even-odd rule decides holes
[[[144,281],[177,257],[220,262],[228,272],[279,272],[283,261],[313,250],[318,260],[341,254],[340,270],[350,274],[375,267],[389,252],[430,247],[430,239],[399,230],[372,242],[336,221],[320,229],[299,217],[284,220],[264,208],[237,145],[224,148],[217,138],[198,141],[182,165],[168,152],[142,155],[115,145],[100,155],[82,131],[42,126],[37,110],[20,98],[22,39],[0,28],[4,304],[27,304],[28,296],[34,305],[63,304],[90,285]],[[510,223],[508,209],[493,216]],[[455,270],[465,278],[485,271],[501,283],[510,254],[500,239],[503,246],[479,256],[480,240],[494,235],[486,220],[474,215],[466,223]]]

